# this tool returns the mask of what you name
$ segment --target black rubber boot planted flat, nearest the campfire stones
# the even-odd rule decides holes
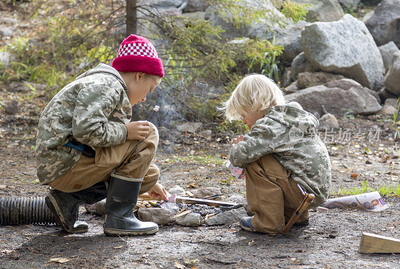
[[[158,231],[157,224],[141,222],[133,215],[142,180],[111,174],[103,224],[106,236],[152,235]]]

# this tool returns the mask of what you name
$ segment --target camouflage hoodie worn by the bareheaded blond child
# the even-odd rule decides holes
[[[272,153],[295,182],[315,195],[312,206],[317,207],[329,195],[331,178],[328,152],[316,135],[318,125],[318,120],[296,102],[273,106],[254,123],[244,141],[230,149],[228,159],[245,168]]]

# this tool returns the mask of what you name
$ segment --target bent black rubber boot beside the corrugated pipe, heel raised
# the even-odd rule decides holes
[[[58,225],[67,233],[86,233],[87,223],[78,220],[78,208],[82,204],[94,204],[107,196],[104,182],[99,182],[87,189],[65,193],[51,190],[45,201],[48,209],[54,215]]]

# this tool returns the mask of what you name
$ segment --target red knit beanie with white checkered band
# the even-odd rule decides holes
[[[162,61],[154,46],[146,38],[131,34],[119,46],[118,56],[112,60],[112,67],[120,72],[143,72],[164,76]]]

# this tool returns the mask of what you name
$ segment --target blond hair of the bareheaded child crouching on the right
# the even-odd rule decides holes
[[[229,120],[239,120],[242,115],[250,117],[254,112],[284,103],[283,93],[272,79],[250,74],[240,81],[230,98],[218,109],[224,111]]]

